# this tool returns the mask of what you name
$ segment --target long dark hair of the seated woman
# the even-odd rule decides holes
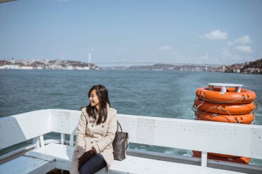
[[[88,116],[91,116],[95,120],[97,120],[98,116],[97,124],[101,124],[105,122],[106,118],[108,118],[108,105],[110,107],[108,89],[106,89],[103,85],[94,85],[88,92],[88,98],[90,97],[92,90],[96,90],[97,92],[97,96],[100,101],[99,111],[95,111],[95,107],[88,105],[88,107],[86,107],[86,112],[88,113]]]

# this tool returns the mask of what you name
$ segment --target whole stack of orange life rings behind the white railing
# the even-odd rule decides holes
[[[214,83],[209,85],[209,87],[196,89],[196,99],[193,105],[196,120],[252,124],[254,109],[257,109],[257,105],[254,104],[256,101],[254,91],[238,89],[237,87],[242,85],[235,84]],[[214,87],[216,85],[220,87]],[[193,156],[201,157],[201,152],[193,151]],[[237,157],[218,153],[208,153],[208,159],[243,164],[250,162],[250,157]]]

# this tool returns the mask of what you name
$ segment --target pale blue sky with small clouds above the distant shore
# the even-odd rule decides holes
[[[88,62],[88,52],[100,66],[255,61],[262,58],[262,0],[0,3],[0,60]]]

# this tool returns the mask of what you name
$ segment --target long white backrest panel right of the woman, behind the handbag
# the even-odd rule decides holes
[[[174,118],[118,115],[130,142],[262,159],[262,127]]]

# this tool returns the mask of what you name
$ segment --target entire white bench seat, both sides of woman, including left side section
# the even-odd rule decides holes
[[[63,144],[48,144],[39,149],[29,151],[25,155],[11,160],[0,166],[0,171],[8,173],[47,173],[54,168],[69,170],[70,160],[74,152],[74,146]],[[0,172],[1,173],[1,172]],[[105,168],[97,174],[105,174]],[[128,155],[125,160],[114,160],[110,174],[119,173],[203,173],[203,174],[236,174],[238,172],[225,171],[217,168],[209,168],[176,162],[152,160],[143,157]]]

